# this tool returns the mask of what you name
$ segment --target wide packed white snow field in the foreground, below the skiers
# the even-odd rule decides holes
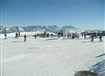
[[[95,39],[1,39],[2,76],[74,76],[80,70],[105,75],[104,41]],[[100,65],[100,66],[99,66]]]

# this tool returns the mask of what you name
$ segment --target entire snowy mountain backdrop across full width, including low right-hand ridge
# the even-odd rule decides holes
[[[46,25],[31,25],[31,26],[0,26],[0,33],[14,33],[14,32],[52,32],[52,33],[63,33],[64,35],[67,35],[68,33],[78,33],[81,34],[81,32],[103,32],[105,36],[105,31],[104,30],[81,30],[76,27],[73,27],[71,25],[68,26],[62,26],[59,27],[57,25],[51,25],[51,26],[46,26]]]

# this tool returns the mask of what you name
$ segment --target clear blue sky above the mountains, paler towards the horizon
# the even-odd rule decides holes
[[[103,29],[104,7],[104,0],[1,0],[1,23]]]

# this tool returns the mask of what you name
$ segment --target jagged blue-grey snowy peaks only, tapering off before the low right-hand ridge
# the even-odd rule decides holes
[[[46,25],[32,25],[32,26],[0,26],[0,33],[8,32],[8,33],[13,33],[13,32],[34,32],[34,31],[40,31],[40,32],[53,32],[53,33],[58,33],[60,31],[71,31],[71,30],[78,30],[77,28],[73,26],[63,26],[63,27],[58,27],[56,25],[51,25],[51,26],[46,26]]]

